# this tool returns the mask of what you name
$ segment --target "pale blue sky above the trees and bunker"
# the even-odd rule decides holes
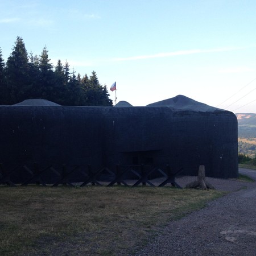
[[[256,113],[255,0],[0,0],[0,48],[20,36],[133,106],[179,94]]]

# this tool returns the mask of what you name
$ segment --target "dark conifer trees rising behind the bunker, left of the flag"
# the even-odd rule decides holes
[[[90,76],[76,76],[68,61],[58,60],[56,66],[50,61],[47,47],[39,56],[28,54],[19,36],[6,63],[0,48],[0,105],[43,98],[64,106],[113,106],[95,71]]]

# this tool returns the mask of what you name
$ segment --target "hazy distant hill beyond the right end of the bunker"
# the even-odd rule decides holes
[[[238,137],[256,138],[256,114],[238,113],[236,116],[238,121]]]

